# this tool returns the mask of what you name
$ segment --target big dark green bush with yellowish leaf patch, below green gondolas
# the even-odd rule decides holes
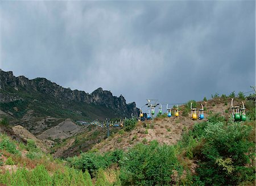
[[[225,125],[209,122],[197,173],[206,185],[236,185],[255,179],[253,167],[245,167],[253,159],[255,147],[248,140],[250,126],[240,123]]]

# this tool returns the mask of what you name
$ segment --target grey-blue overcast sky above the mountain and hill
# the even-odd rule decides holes
[[[255,86],[255,1],[0,1],[0,68],[137,107]]]

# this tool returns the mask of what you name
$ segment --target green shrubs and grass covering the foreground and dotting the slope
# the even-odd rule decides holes
[[[194,101],[185,105],[184,109],[188,110],[185,112],[189,113],[191,102]],[[193,107],[196,107],[196,104],[193,104]],[[221,115],[223,113],[208,112],[207,121],[200,121],[192,128],[184,126],[183,136],[175,145],[160,145],[157,141],[140,138],[144,135],[142,133],[132,133],[129,143],[142,143],[131,146],[127,151],[116,149],[100,153],[98,149],[93,149],[66,160],[53,160],[50,155],[42,153],[36,147],[35,141],[28,140],[25,146],[1,135],[1,155],[8,158],[0,159],[0,164],[15,164],[14,167],[19,168],[11,173],[3,171],[0,174],[0,183],[255,185],[255,104],[246,103],[246,110],[247,121],[244,122],[228,120]],[[228,109],[225,112],[227,113]],[[123,135],[125,131],[129,133],[135,129],[136,124],[137,121],[133,119],[126,120],[119,134]],[[154,129],[151,123],[144,122],[142,125],[146,128],[144,133]],[[170,128],[166,130],[171,131]],[[90,139],[97,138],[99,131],[101,130],[92,130]],[[76,141],[81,139],[82,136],[76,136]],[[117,142],[121,141],[119,136]],[[77,145],[76,142],[75,146]],[[22,149],[28,151],[26,155],[21,155]]]

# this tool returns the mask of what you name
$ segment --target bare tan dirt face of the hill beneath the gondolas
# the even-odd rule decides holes
[[[225,105],[225,102],[228,104]],[[192,128],[195,123],[206,121],[209,113],[220,113],[226,119],[230,115],[231,105],[229,100],[217,98],[208,102],[198,102],[197,105],[200,105],[200,103],[203,103],[206,109],[204,120],[193,121],[190,119],[190,113],[188,116],[181,116],[184,110],[183,105],[180,106],[179,117],[172,116],[170,118],[155,119],[154,122],[151,120],[139,122],[131,132],[117,133],[113,137],[109,137],[94,145],[93,148],[98,149],[102,153],[114,149],[127,150],[139,142],[148,143],[152,140],[156,140],[160,144],[166,143],[167,145],[171,145],[180,140],[182,133]],[[197,107],[197,109],[199,108]],[[225,112],[226,110],[229,112]]]

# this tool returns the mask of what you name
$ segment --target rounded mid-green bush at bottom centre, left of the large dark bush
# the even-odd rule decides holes
[[[121,166],[121,181],[129,185],[170,185],[172,170],[177,170],[173,146],[139,143],[130,149]]]

